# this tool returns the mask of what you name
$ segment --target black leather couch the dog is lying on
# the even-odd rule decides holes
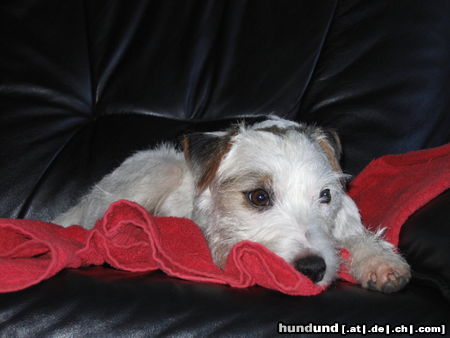
[[[138,149],[271,112],[335,128],[352,175],[447,143],[449,17],[447,0],[2,0],[0,216],[49,220]],[[292,297],[65,270],[0,294],[0,336],[274,336],[279,322],[450,330],[449,205],[447,191],[404,226],[413,279],[395,294],[338,281]]]

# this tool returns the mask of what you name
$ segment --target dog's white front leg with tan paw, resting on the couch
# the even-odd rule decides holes
[[[347,195],[336,218],[334,237],[339,247],[349,250],[349,271],[363,287],[390,293],[410,279],[408,263],[381,238],[381,231],[374,234],[363,226],[355,203]]]

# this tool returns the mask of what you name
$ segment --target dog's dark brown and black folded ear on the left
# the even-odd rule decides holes
[[[227,132],[193,133],[185,135],[181,144],[184,158],[194,174],[197,190],[203,191],[231,148],[231,135]]]

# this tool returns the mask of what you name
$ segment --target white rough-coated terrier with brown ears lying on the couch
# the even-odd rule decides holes
[[[334,132],[271,115],[187,135],[182,146],[137,152],[54,222],[92,227],[110,203],[128,199],[153,215],[192,219],[220,267],[250,240],[319,285],[336,278],[337,248],[350,251],[349,271],[365,288],[390,293],[408,282],[409,265],[362,225],[344,191]]]

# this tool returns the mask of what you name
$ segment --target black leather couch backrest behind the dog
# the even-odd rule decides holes
[[[131,152],[271,112],[344,169],[449,142],[450,3],[3,1],[0,215],[50,219]]]

